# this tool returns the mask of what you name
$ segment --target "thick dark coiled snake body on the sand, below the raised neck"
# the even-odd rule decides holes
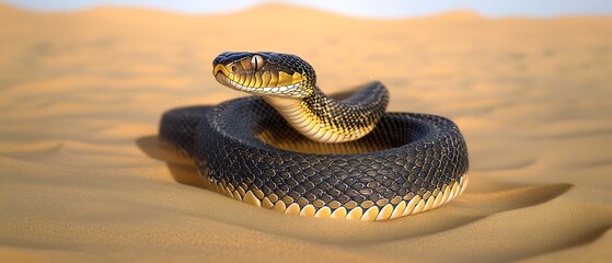
[[[257,68],[253,56],[241,57]],[[345,101],[371,100],[365,94],[380,94],[381,87],[374,82]],[[247,96],[171,110],[160,139],[195,158],[215,191],[287,214],[386,220],[436,208],[465,188],[467,150],[453,122],[384,112],[376,122],[357,139],[317,142],[274,103]]]

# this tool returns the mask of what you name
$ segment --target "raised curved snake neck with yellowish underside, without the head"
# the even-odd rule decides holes
[[[303,136],[319,142],[344,142],[370,133],[384,114],[386,89],[374,83],[344,101],[325,95],[317,87],[303,99],[264,96]]]

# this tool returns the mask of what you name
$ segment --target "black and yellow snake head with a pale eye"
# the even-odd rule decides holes
[[[305,98],[316,83],[312,66],[279,53],[222,53],[212,61],[212,75],[231,89],[280,98]]]

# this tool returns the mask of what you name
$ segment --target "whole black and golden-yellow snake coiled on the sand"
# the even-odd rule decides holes
[[[217,82],[250,95],[170,110],[159,138],[220,194],[285,214],[379,221],[437,208],[467,185],[458,125],[386,112],[380,81],[326,95],[309,62],[282,53],[222,53],[212,68]]]

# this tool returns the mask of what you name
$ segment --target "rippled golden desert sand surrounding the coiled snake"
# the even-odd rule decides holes
[[[265,5],[219,15],[0,5],[3,262],[605,262],[612,18],[365,20]],[[448,116],[471,185],[386,222],[286,216],[204,188],[160,148],[162,112],[243,96],[224,50],[300,55],[326,92],[370,79],[390,111]]]

